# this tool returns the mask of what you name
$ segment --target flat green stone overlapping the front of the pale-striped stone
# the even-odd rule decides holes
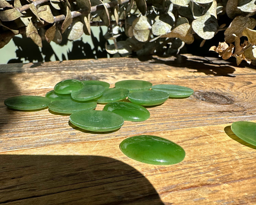
[[[164,103],[169,98],[167,92],[162,91],[137,91],[129,93],[128,99],[135,104],[153,106]]]

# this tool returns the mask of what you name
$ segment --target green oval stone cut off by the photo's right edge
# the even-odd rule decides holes
[[[231,130],[245,142],[256,146],[256,123],[237,121],[231,124]]]

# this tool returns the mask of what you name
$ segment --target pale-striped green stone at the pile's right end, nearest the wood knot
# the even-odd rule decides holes
[[[167,92],[170,98],[186,98],[194,93],[191,88],[171,84],[153,85],[152,90]]]

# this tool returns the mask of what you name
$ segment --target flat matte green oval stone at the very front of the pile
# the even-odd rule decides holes
[[[79,128],[97,132],[113,131],[124,124],[120,115],[100,110],[78,111],[71,114],[69,120]]]

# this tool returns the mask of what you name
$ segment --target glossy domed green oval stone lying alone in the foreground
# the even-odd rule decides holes
[[[120,149],[127,157],[152,165],[177,164],[186,155],[180,145],[153,135],[126,138],[120,143]]]

